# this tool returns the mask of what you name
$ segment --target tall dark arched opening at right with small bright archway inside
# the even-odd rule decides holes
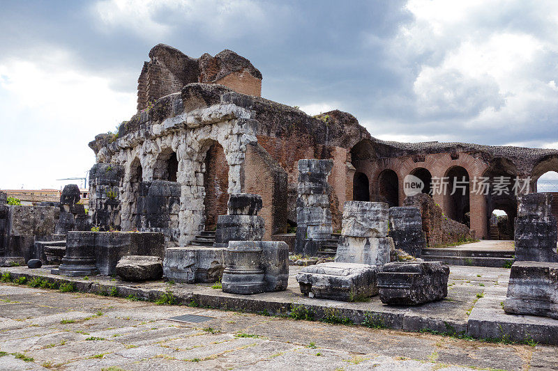
[[[513,222],[517,216],[518,198],[515,196],[513,185],[518,178],[518,169],[513,162],[504,157],[495,157],[490,161],[483,173],[488,189],[483,189],[486,200],[486,223],[488,238],[495,236],[495,221],[492,218],[494,210],[502,210],[507,214],[508,234],[513,239]],[[478,186],[478,188],[481,188]],[[479,190],[480,191],[480,190]]]

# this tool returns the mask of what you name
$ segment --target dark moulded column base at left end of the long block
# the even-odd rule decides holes
[[[93,276],[99,271],[95,266],[95,235],[96,232],[68,232],[66,255],[58,269],[51,274],[63,276]]]

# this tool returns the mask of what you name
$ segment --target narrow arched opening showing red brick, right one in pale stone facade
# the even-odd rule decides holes
[[[212,141],[204,159],[205,229],[214,230],[217,216],[227,214],[229,166],[223,147]]]

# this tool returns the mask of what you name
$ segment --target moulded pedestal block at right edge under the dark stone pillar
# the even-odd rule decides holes
[[[558,263],[513,263],[504,311],[558,319]]]

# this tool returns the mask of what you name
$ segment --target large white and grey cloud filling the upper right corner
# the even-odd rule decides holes
[[[483,129],[493,143],[501,129],[525,136],[555,127],[558,36],[545,30],[558,26],[558,2],[409,0],[407,10],[414,22],[390,52],[416,71],[419,117],[451,118],[455,134]]]

